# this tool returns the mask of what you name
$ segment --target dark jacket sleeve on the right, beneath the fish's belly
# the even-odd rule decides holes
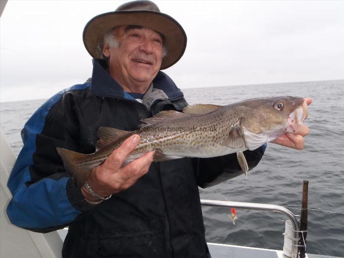
[[[259,163],[266,146],[264,144],[253,151],[244,151],[249,170]],[[198,186],[202,188],[211,187],[243,174],[236,153],[213,158],[197,158],[193,162]]]

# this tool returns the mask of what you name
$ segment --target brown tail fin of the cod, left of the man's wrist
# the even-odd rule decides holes
[[[63,161],[65,169],[73,177],[77,187],[81,188],[89,177],[93,166],[82,165],[82,163],[78,161],[89,156],[89,154],[82,154],[59,147],[57,147],[56,150]]]

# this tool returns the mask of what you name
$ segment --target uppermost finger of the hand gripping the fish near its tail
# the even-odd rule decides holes
[[[110,166],[114,169],[119,169],[123,164],[125,158],[136,148],[140,142],[140,136],[133,135],[132,137],[126,139],[121,146],[115,149],[106,162],[110,162]]]

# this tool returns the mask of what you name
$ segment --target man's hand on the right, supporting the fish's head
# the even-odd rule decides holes
[[[305,98],[305,100],[308,106],[311,105],[313,101],[311,98]],[[305,147],[304,136],[308,135],[309,131],[306,125],[301,125],[298,135],[284,134],[273,141],[273,143],[302,150]]]

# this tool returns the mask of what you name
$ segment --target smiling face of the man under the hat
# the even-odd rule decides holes
[[[147,83],[148,87],[161,66],[163,46],[160,34],[145,27],[126,25],[117,27],[114,33],[118,48],[105,44],[103,49],[104,55],[109,57],[110,74],[124,88],[128,83]]]

